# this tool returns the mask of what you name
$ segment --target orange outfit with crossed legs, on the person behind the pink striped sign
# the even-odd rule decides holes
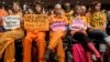
[[[51,40],[48,44],[48,49],[53,50],[56,49],[58,62],[65,62],[65,51],[63,48],[63,40],[62,38],[66,34],[66,24],[67,24],[67,18],[65,16],[51,17]]]

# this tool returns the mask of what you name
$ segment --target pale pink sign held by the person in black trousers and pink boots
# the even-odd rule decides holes
[[[70,24],[70,29],[74,30],[74,29],[80,29],[80,28],[84,28],[84,20],[74,19],[72,24]]]

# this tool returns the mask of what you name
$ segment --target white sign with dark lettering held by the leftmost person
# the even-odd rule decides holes
[[[7,30],[20,28],[20,18],[18,16],[8,16],[3,19],[3,28]]]

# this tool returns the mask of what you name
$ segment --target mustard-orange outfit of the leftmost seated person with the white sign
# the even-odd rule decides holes
[[[12,16],[19,16],[19,13]],[[19,18],[21,18],[21,16],[19,16]],[[10,31],[6,31],[0,35],[0,58],[4,53],[4,62],[15,61],[14,40],[21,39],[23,37],[24,32],[21,27],[16,29],[11,29]]]

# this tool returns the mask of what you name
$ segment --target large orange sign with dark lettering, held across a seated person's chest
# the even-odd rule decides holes
[[[25,30],[38,30],[47,31],[50,29],[50,22],[45,14],[25,14],[24,16],[24,29]]]

